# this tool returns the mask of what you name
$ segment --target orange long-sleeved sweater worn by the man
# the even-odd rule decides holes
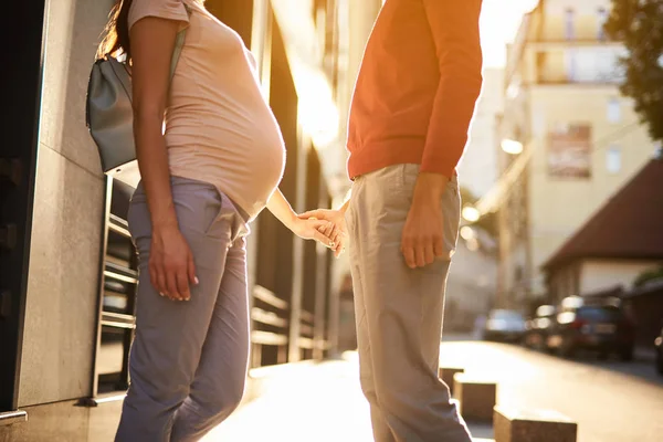
[[[451,177],[482,85],[481,0],[387,0],[357,78],[350,178],[398,164]]]

